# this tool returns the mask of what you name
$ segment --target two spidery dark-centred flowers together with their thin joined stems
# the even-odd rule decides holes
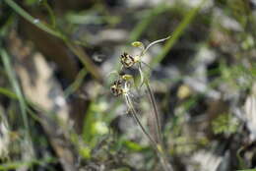
[[[169,38],[169,37],[167,37]],[[121,69],[119,72],[114,72],[114,73],[118,73],[118,79],[115,80],[113,82],[113,85],[110,86],[110,90],[113,93],[113,95],[115,96],[119,96],[119,95],[123,95],[125,102],[127,104],[127,107],[129,109],[129,111],[131,112],[132,117],[134,118],[134,120],[136,121],[136,123],[138,124],[138,126],[140,127],[140,129],[142,130],[142,132],[145,134],[145,136],[149,139],[149,141],[151,142],[152,146],[155,148],[155,150],[157,151],[159,157],[160,157],[160,163],[162,165],[162,168],[164,171],[172,171],[173,169],[171,168],[170,165],[168,165],[167,163],[167,159],[165,158],[164,152],[162,150],[162,141],[161,141],[161,133],[160,133],[160,119],[159,119],[159,111],[158,111],[158,107],[156,104],[156,100],[154,97],[154,93],[151,89],[149,80],[147,77],[145,77],[146,73],[142,70],[142,65],[146,65],[148,66],[146,63],[144,63],[142,61],[142,57],[145,55],[145,53],[147,52],[147,50],[154,44],[164,41],[167,38],[163,38],[157,41],[154,41],[152,43],[150,43],[146,48],[144,46],[144,44],[140,41],[135,41],[132,43],[132,45],[134,47],[138,47],[141,49],[141,53],[139,55],[129,55],[128,53],[124,52],[121,56],[120,56],[120,62],[121,62]],[[134,107],[134,102],[131,99],[131,87],[134,85],[136,87],[136,89],[138,90],[138,87],[135,85],[135,81],[132,75],[128,75],[128,74],[123,74],[125,73],[124,70],[130,69],[134,67],[135,69],[137,69],[140,73],[140,78],[141,78],[141,85],[145,85],[145,87],[147,88],[147,92],[149,93],[149,98],[151,101],[151,104],[153,106],[153,117],[155,118],[154,121],[154,126],[156,128],[156,133],[157,136],[154,137],[150,134],[150,132],[147,131],[147,129],[142,125],[140,119],[137,117],[137,110]],[[122,73],[122,74],[119,74]]]

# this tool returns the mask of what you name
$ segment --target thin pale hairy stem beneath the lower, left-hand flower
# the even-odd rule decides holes
[[[170,166],[170,164],[167,161],[167,158],[162,150],[162,145],[156,141],[154,141],[154,139],[150,136],[150,134],[146,131],[146,129],[143,127],[141,121],[139,120],[139,118],[137,117],[137,112],[134,108],[133,102],[131,101],[131,98],[129,97],[128,94],[124,95],[125,97],[125,101],[126,104],[129,108],[129,110],[131,111],[131,114],[134,118],[134,120],[136,121],[136,123],[139,125],[139,127],[141,128],[142,132],[145,134],[145,136],[150,140],[152,146],[154,147],[154,149],[157,151],[158,156],[160,157],[160,164],[161,167],[163,169],[163,171],[173,171],[172,167]]]

